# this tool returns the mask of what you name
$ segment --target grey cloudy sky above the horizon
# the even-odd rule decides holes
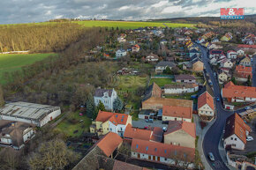
[[[0,0],[0,24],[41,22],[52,18],[142,20],[220,16],[220,8],[245,8],[255,0]]]

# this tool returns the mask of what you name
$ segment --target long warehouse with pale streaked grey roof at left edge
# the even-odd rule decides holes
[[[9,115],[26,120],[41,121],[46,115],[60,110],[60,107],[52,107],[49,105],[41,105],[26,102],[14,102],[5,104],[0,108],[0,115]]]

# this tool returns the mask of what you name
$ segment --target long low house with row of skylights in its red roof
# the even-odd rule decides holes
[[[191,163],[193,168],[195,149],[172,144],[162,144],[139,139],[132,139],[131,155],[133,159],[143,159],[167,165],[177,165],[182,161]]]

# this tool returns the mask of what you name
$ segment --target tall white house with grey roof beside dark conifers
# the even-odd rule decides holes
[[[98,106],[100,101],[107,110],[113,110],[113,102],[117,99],[117,92],[113,88],[112,90],[108,89],[96,89],[94,93],[94,104]]]

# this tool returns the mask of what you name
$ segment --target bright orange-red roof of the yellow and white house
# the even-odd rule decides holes
[[[104,112],[100,110],[96,117],[96,122],[110,121],[117,126],[117,124],[126,124],[127,119],[128,119],[128,115],[126,114]]]

